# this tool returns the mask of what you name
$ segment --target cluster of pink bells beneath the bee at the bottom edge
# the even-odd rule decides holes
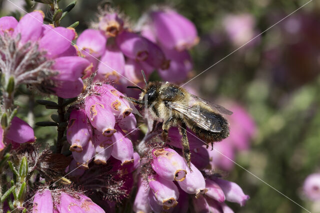
[[[195,212],[232,212],[224,201],[243,206],[249,199],[237,184],[203,176],[204,171],[192,163],[189,169],[185,160],[170,148],[152,150],[151,167],[155,174],[149,175],[147,181],[140,177],[135,212],[187,212],[189,197]]]

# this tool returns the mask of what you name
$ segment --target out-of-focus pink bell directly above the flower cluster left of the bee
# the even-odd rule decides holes
[[[96,78],[118,81],[124,74],[124,65],[123,53],[117,48],[107,47],[97,67]]]

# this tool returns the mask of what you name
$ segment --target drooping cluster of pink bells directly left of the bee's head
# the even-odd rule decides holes
[[[109,84],[96,83],[78,109],[72,109],[66,132],[73,160],[83,169],[94,157],[95,164],[106,164],[112,156],[121,165],[133,163],[133,145],[125,136],[136,120],[129,103]]]

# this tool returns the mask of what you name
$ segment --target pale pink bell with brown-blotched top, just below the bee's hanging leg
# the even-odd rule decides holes
[[[174,150],[154,149],[152,150],[152,169],[161,178],[168,181],[183,181],[186,175],[186,164],[184,159]]]

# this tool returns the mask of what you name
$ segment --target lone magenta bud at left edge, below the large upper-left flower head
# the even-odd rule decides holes
[[[11,125],[5,138],[19,144],[35,142],[33,129],[30,125],[16,116],[12,118]]]

